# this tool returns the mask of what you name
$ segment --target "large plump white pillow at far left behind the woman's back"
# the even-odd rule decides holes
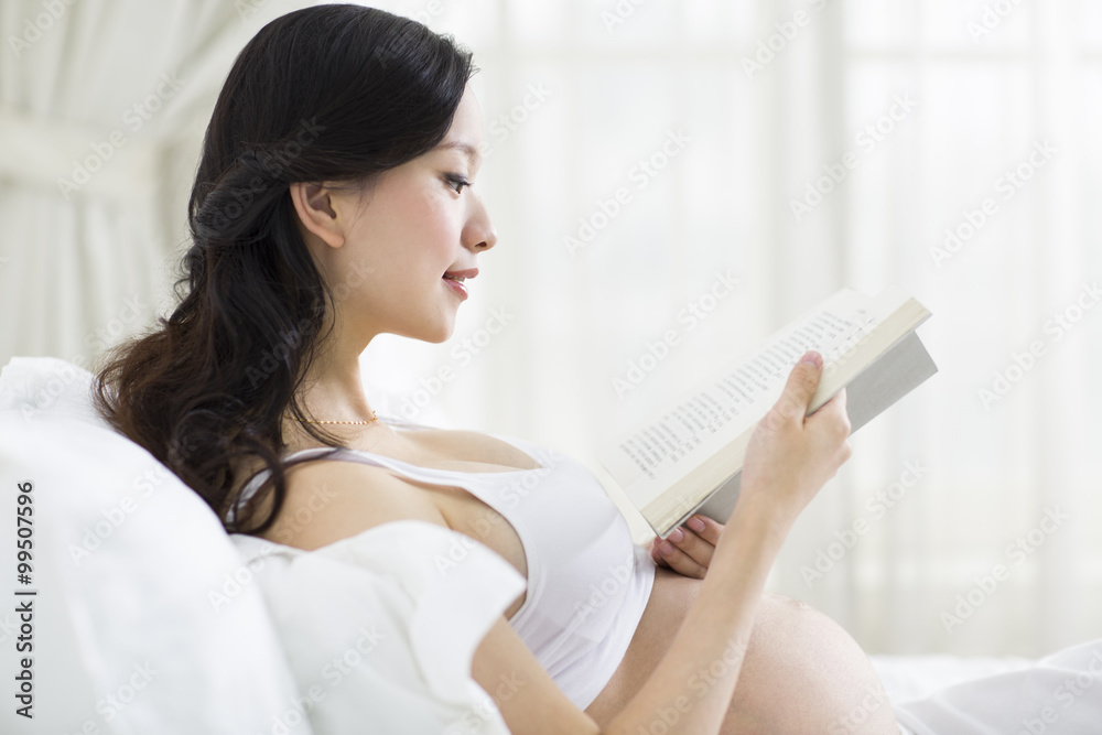
[[[0,374],[0,570],[33,599],[34,720],[0,732],[294,733],[300,696],[257,585],[216,515],[89,402],[91,374],[14,357]],[[32,583],[14,585],[19,483],[33,483]],[[217,605],[218,593],[233,592]],[[20,598],[22,601],[23,598]],[[12,617],[0,613],[0,637]],[[0,672],[21,670],[12,640]],[[11,688],[9,688],[10,691]]]

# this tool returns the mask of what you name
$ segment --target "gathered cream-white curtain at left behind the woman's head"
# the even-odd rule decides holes
[[[0,363],[89,366],[165,310],[226,73],[304,4],[0,3]]]

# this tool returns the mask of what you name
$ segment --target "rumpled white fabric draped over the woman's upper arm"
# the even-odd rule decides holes
[[[451,529],[391,521],[315,551],[231,537],[268,598],[317,735],[507,735],[471,678],[525,579]],[[503,682],[508,696],[522,682]]]

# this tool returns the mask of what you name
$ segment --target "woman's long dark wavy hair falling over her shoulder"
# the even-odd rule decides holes
[[[342,288],[315,268],[289,184],[363,191],[430,151],[475,71],[451,36],[353,4],[277,18],[238,54],[187,204],[180,302],[105,356],[94,391],[111,425],[198,493],[227,531],[262,533],[276,521],[292,464],[281,460],[282,418],[309,418],[296,391]],[[237,463],[250,457],[271,475],[231,519]],[[272,491],[270,512],[246,528]]]

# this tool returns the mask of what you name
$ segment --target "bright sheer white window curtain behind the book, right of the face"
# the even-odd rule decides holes
[[[1102,636],[1096,3],[386,7],[475,51],[500,234],[452,342],[368,348],[389,410],[599,473],[594,447],[801,311],[897,283],[940,374],[853,437],[770,587],[876,652]]]

